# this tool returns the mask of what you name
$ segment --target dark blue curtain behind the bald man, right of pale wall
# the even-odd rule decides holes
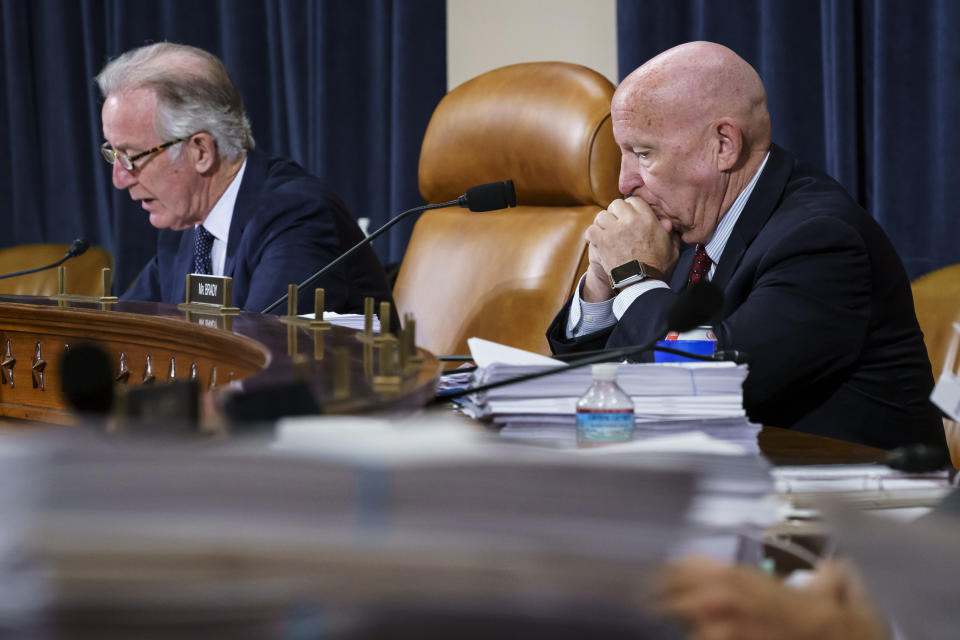
[[[912,278],[960,262],[960,2],[618,0],[621,78],[689,40],[763,77],[774,141],[886,229]]]

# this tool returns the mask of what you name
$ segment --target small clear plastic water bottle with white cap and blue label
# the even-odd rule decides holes
[[[593,365],[593,384],[577,401],[577,444],[633,440],[633,400],[617,385],[617,364]]]

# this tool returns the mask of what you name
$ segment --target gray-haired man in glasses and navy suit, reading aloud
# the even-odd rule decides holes
[[[300,166],[254,149],[240,93],[214,55],[158,43],[111,61],[96,78],[104,158],[160,229],[157,253],[127,300],[182,302],[185,275],[233,278],[233,304],[260,311],[359,242],[346,206]],[[315,286],[328,310],[361,313],[390,300],[369,247]],[[310,308],[313,292],[300,292]]]

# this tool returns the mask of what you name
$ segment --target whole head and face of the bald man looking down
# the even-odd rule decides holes
[[[671,233],[706,243],[770,148],[760,76],[712,42],[653,58],[610,105],[620,193],[641,198]]]

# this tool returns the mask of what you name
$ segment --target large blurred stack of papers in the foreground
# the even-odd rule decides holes
[[[455,440],[423,456],[28,440],[6,454],[17,465],[4,469],[31,469],[32,495],[6,522],[23,535],[5,555],[46,576],[39,608],[58,624],[118,624],[126,637],[161,620],[186,625],[169,637],[195,632],[191,621],[207,637],[238,637],[230,625],[281,637],[249,634],[304,609],[641,624],[646,576],[682,528],[694,472]]]

